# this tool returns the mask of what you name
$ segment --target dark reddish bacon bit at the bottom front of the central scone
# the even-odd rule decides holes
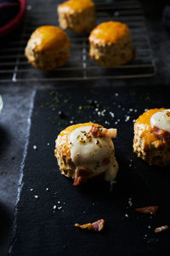
[[[77,168],[76,177],[74,178],[74,186],[85,183],[92,172],[85,167]]]

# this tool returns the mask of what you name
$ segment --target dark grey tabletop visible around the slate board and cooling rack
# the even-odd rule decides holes
[[[28,1],[38,4],[46,1]],[[49,1],[48,1],[49,2]],[[54,2],[54,1],[52,1]],[[55,1],[56,2],[56,1]],[[60,1],[61,2],[61,1]],[[163,2],[141,1],[144,6],[146,26],[150,34],[151,48],[156,61],[157,74],[150,79],[127,79],[127,80],[102,80],[81,81],[74,84],[79,86],[102,86],[105,84],[115,86],[160,84],[162,90],[165,84],[170,84],[170,32],[167,32],[161,23]],[[0,255],[7,255],[9,234],[12,229],[14,218],[14,205],[17,200],[17,189],[20,178],[20,165],[26,145],[26,135],[29,129],[29,119],[33,95],[37,89],[56,88],[68,85],[66,82],[59,83],[7,83],[0,84],[0,94],[3,96],[3,112],[0,117]],[[169,92],[169,90],[168,90]]]

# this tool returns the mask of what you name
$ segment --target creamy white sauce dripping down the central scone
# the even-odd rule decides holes
[[[90,177],[105,172],[105,179],[111,181],[118,171],[112,140],[110,137],[95,138],[88,132],[90,129],[91,126],[81,126],[71,132],[71,160],[77,168],[88,168],[92,172]],[[104,164],[108,158],[110,162]]]

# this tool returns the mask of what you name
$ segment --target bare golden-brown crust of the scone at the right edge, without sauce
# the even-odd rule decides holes
[[[165,108],[154,108],[139,116],[134,124],[133,151],[150,165],[166,166],[170,163],[170,143],[156,136],[150,125],[151,116]]]

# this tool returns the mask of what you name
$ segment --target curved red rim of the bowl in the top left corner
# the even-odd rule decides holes
[[[0,37],[4,37],[8,34],[8,32],[11,32],[20,25],[20,22],[24,19],[24,16],[26,14],[26,1],[25,0],[19,0],[20,3],[20,11],[18,15],[14,17],[13,20],[10,20],[8,24],[5,26],[0,27]]]

